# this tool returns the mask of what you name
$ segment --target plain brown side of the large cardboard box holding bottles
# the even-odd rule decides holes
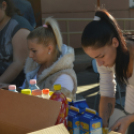
[[[60,107],[58,101],[0,90],[0,134],[26,134],[53,126]]]

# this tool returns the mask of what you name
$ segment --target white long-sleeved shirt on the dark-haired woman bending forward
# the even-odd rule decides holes
[[[100,73],[100,95],[111,98],[115,97],[115,66],[109,68],[97,65],[97,68],[98,72]],[[134,113],[134,65],[133,74],[128,79],[128,84],[126,87],[126,99],[124,109],[130,114]]]

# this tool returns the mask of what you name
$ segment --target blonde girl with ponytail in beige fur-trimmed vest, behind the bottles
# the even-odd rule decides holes
[[[62,36],[55,19],[49,17],[42,27],[27,37],[29,58],[26,60],[26,80],[22,88],[28,88],[30,79],[37,79],[40,89],[60,84],[62,92],[75,99],[77,88],[73,70],[74,49],[62,43]]]

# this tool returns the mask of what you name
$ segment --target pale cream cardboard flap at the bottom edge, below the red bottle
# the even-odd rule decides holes
[[[46,129],[42,129],[36,132],[28,133],[28,134],[69,134],[67,129],[63,124],[59,124],[56,126],[52,126]]]

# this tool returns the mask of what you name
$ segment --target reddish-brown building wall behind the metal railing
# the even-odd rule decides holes
[[[134,18],[134,9],[129,8],[129,0],[100,0],[115,18]],[[42,18],[93,18],[97,0],[41,0]],[[71,31],[82,31],[88,22],[70,22]],[[127,22],[126,29],[134,29],[134,22]],[[66,32],[66,23],[59,22],[62,32]],[[119,22],[123,28],[123,22]],[[67,44],[67,35],[63,35]],[[80,47],[81,34],[70,36],[70,44],[74,48]]]

